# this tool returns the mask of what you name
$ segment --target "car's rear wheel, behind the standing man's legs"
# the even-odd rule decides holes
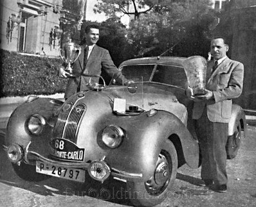
[[[232,136],[229,136],[226,142],[227,159],[233,159],[235,158],[235,156],[237,156],[241,144],[241,135],[241,123],[238,122],[234,134]]]

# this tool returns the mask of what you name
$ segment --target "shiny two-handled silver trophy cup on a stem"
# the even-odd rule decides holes
[[[72,64],[77,60],[78,56],[81,54],[81,47],[74,42],[68,42],[64,44],[63,48],[59,49],[60,58],[67,64],[65,71],[73,77]]]

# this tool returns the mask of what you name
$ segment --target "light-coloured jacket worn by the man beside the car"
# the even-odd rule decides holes
[[[211,74],[214,61],[207,64],[206,89],[214,94],[208,101],[194,102],[193,119],[199,119],[206,107],[208,119],[212,122],[228,123],[232,112],[232,99],[242,93],[244,65],[226,58]]]

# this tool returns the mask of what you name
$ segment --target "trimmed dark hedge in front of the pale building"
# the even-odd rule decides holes
[[[57,76],[60,58],[28,56],[0,49],[0,97],[63,93],[67,79]]]

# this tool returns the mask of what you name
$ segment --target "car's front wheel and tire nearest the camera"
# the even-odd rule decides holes
[[[174,185],[177,168],[176,149],[172,142],[167,140],[161,147],[152,177],[146,182],[127,181],[131,202],[135,206],[155,206],[161,203]]]

